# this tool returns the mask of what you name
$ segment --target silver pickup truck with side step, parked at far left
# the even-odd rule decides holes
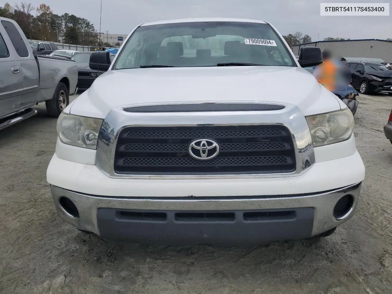
[[[77,82],[76,62],[34,55],[19,25],[0,17],[0,129],[35,115],[31,107],[44,101],[59,116]]]

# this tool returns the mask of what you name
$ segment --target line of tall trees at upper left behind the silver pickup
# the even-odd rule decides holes
[[[56,15],[46,4],[33,7],[22,2],[11,6],[8,2],[0,6],[0,16],[15,20],[28,39],[63,42],[85,46],[108,46],[101,42],[91,22],[76,15]]]

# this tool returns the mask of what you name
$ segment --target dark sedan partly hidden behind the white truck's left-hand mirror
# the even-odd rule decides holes
[[[103,71],[95,71],[89,67],[90,55],[93,51],[78,52],[72,57],[78,64],[78,90],[85,91],[93,84],[94,80],[103,74]],[[111,54],[113,60],[114,54]]]

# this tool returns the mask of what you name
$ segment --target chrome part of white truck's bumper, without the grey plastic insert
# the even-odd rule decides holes
[[[321,234],[349,220],[356,209],[361,191],[361,183],[333,191],[305,195],[282,196],[248,196],[224,198],[192,198],[192,199],[157,199],[157,198],[111,198],[93,196],[68,191],[51,185],[54,205],[61,218],[80,230],[94,232],[100,235],[97,211],[98,208],[134,209],[149,211],[227,211],[227,210],[256,210],[256,209],[291,209],[300,207],[314,208],[314,223],[312,236]],[[354,197],[352,211],[343,220],[336,220],[332,212],[339,199],[351,194]],[[76,205],[79,218],[70,216],[60,205],[60,198],[67,197]],[[270,197],[270,198],[269,198]]]

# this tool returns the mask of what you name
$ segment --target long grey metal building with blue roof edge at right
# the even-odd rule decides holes
[[[338,57],[379,58],[385,62],[392,62],[392,41],[387,40],[362,39],[311,42],[295,45],[293,47],[294,54],[299,55],[299,49],[303,46],[320,47],[321,50],[328,49]]]

